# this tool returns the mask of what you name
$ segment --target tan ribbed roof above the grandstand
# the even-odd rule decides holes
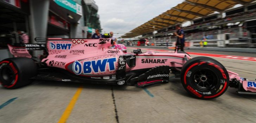
[[[193,19],[204,17],[213,12],[223,13],[226,9],[237,4],[245,5],[252,1],[254,0],[186,0],[134,28],[130,31],[131,33],[126,33],[126,36],[122,36],[122,38],[136,37],[177,23],[192,21]]]

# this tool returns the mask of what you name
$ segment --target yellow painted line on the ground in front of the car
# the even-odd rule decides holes
[[[80,93],[82,92],[82,90],[83,90],[83,87],[82,87],[82,86],[80,86],[80,87],[77,89],[75,95],[74,95],[73,98],[71,99],[71,101],[70,101],[68,107],[66,108],[66,110],[63,112],[63,114],[62,114],[62,116],[60,117],[58,123],[65,123],[65,122],[67,121],[67,119],[69,118],[70,113],[72,112],[72,109],[74,108],[74,106],[75,106],[75,104],[76,104],[76,101],[77,101],[77,99],[78,99]]]

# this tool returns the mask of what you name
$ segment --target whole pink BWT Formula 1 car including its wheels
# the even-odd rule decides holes
[[[43,42],[8,45],[15,58],[0,62],[2,86],[14,89],[39,79],[142,87],[175,76],[188,93],[200,99],[219,97],[228,86],[238,88],[239,93],[256,92],[255,81],[227,71],[208,57],[191,58],[185,52],[142,53],[140,49],[124,53],[109,48],[111,39],[47,38]],[[44,51],[40,61],[33,59],[31,50]]]

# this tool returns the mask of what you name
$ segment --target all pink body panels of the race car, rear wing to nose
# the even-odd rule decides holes
[[[105,41],[103,44],[99,44],[102,41]],[[134,53],[123,53],[120,49],[111,49],[111,39],[62,39],[62,38],[48,38],[47,49],[49,56],[43,59],[42,62],[45,62],[49,67],[58,67],[60,69],[68,70],[69,72],[79,75],[79,76],[88,76],[88,77],[102,77],[102,76],[111,76],[116,74],[118,69],[119,56],[126,54],[133,54],[136,57],[136,66],[130,68],[126,64],[126,71],[152,68],[155,66],[167,65],[172,67],[183,67],[183,64],[186,63],[184,57],[186,55],[187,59],[191,59],[185,53],[155,53],[154,51],[147,51],[141,54]],[[8,45],[9,50],[13,51],[14,47]],[[22,47],[19,47],[22,48]],[[24,49],[23,52],[11,52],[15,57],[22,56],[31,58],[31,55]],[[58,49],[60,48],[60,49]],[[103,60],[108,61],[109,59],[114,60],[114,70],[111,70],[111,63],[108,61],[104,69],[101,70],[98,68],[98,71],[95,72],[92,70],[90,73],[84,73],[79,65],[83,66],[84,62],[95,62],[103,63]],[[107,59],[107,60],[106,60]],[[156,60],[156,61],[154,61]],[[75,64],[75,62],[77,64]],[[113,61],[112,61],[113,62]],[[92,69],[92,66],[90,66]],[[80,70],[81,69],[81,70]],[[87,69],[85,69],[87,70]],[[79,74],[77,74],[79,73]],[[230,80],[236,78],[243,84],[245,90],[256,92],[256,88],[247,87],[248,82],[243,81],[243,78],[239,77],[237,73],[228,71]]]

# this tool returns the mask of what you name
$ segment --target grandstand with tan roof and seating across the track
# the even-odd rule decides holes
[[[233,8],[237,4],[242,6]],[[224,33],[228,33],[230,39],[250,38],[252,33],[244,21],[251,19],[256,19],[255,0],[186,0],[121,38],[140,36],[149,41],[175,41],[171,35],[175,32],[174,25],[185,22],[191,23],[183,27],[186,41],[201,40],[205,34],[209,40],[216,40],[217,34]]]

